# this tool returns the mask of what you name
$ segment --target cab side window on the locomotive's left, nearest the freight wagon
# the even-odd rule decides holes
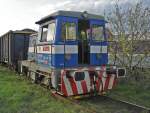
[[[55,23],[50,23],[42,27],[41,42],[54,40],[55,36]]]

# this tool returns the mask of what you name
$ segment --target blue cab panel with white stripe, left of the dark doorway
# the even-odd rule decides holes
[[[77,18],[61,17],[56,45],[59,46],[56,62],[59,67],[75,67],[78,64]],[[58,50],[58,49],[57,49]]]

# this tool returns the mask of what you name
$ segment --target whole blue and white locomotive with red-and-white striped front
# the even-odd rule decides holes
[[[87,12],[58,11],[42,18],[21,73],[63,96],[111,90],[125,69],[108,65],[106,23],[103,16]]]

